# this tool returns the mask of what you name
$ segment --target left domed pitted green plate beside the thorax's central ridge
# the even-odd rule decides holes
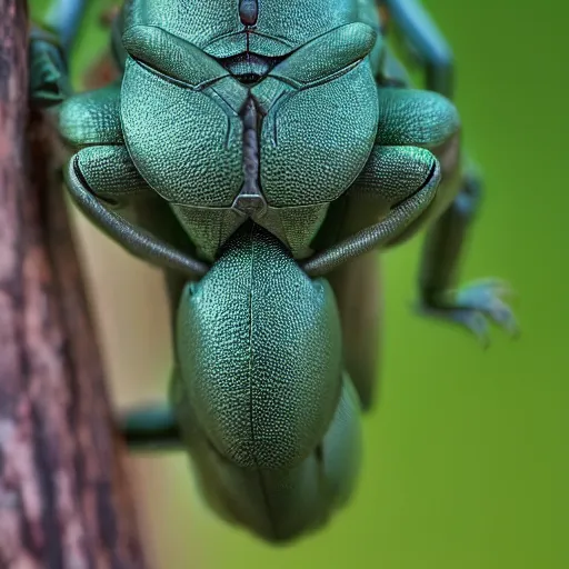
[[[228,117],[210,98],[132,60],[124,72],[121,112],[134,164],[160,196],[187,206],[231,206],[243,182],[239,117]]]

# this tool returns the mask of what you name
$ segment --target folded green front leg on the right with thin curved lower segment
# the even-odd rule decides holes
[[[456,160],[451,159],[456,148],[452,141],[458,137],[460,123],[453,104],[440,94],[418,89],[379,88],[378,99],[380,114],[377,146],[355,187],[348,190],[346,199],[340,200],[341,203],[336,208],[340,209],[342,221],[333,221],[336,227],[326,228],[336,234],[336,243],[306,261],[305,268],[310,274],[323,274],[373,248],[407,239],[426,219],[447,207],[453,198],[452,188],[448,186],[445,191],[437,191],[441,170],[443,174],[449,174],[456,168]],[[410,194],[407,193],[407,183],[415,182],[413,177],[417,174],[413,161],[409,164],[398,162],[397,154],[382,154],[379,150],[381,146],[413,147],[417,158],[420,151],[432,156],[438,150],[441,160],[433,167],[432,177],[421,180],[425,187],[416,186],[412,189],[416,193]],[[432,153],[429,152],[431,149]],[[385,161],[387,159],[395,162],[390,164]],[[391,169],[396,166],[399,170]],[[373,169],[378,169],[376,173]],[[380,173],[388,178],[383,183],[376,184],[375,191],[358,189],[360,182],[363,186],[367,183],[367,177],[375,179]],[[401,193],[398,193],[399,190]],[[397,197],[400,201],[390,201]],[[372,207],[369,200],[375,202]],[[387,206],[392,209],[386,210]]]

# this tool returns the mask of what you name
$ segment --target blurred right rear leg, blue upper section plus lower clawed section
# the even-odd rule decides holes
[[[426,70],[427,89],[451,99],[452,52],[435,22],[417,0],[385,0],[385,4],[412,51],[419,56]],[[459,323],[486,343],[488,320],[493,320],[510,333],[517,332],[517,323],[503,300],[508,292],[505,283],[488,279],[453,290],[465,242],[482,193],[476,170],[475,167],[463,169],[457,191],[443,192],[456,197],[427,233],[419,289],[426,313]],[[441,186],[445,184],[443,181]]]

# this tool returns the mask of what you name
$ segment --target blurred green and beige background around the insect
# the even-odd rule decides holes
[[[46,1],[31,0],[39,14]],[[106,46],[92,2],[72,68]],[[420,239],[383,259],[381,401],[365,419],[357,495],[329,528],[273,549],[219,522],[181,455],[131,460],[157,569],[569,567],[569,4],[426,0],[452,44],[457,104],[487,194],[463,280],[516,288],[522,336],[483,351],[412,311]],[[563,102],[566,101],[566,102]],[[77,218],[117,406],[163,398],[160,274]]]

